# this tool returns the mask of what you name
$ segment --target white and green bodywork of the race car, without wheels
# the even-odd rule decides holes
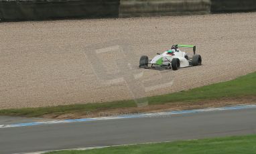
[[[173,54],[168,54],[168,51],[172,51]],[[163,54],[159,54],[155,56],[149,64],[157,64],[159,65],[159,61],[162,61],[162,65],[168,65],[170,62],[172,62],[173,58],[178,58],[180,60],[180,68],[188,67],[190,66],[188,60],[185,58],[185,56],[188,56],[186,52],[182,52],[179,49],[172,49],[164,52]],[[161,60],[162,59],[162,60]],[[160,64],[161,65],[161,64]]]

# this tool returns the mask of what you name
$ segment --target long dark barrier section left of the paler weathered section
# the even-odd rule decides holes
[[[3,21],[118,17],[119,0],[0,0]]]

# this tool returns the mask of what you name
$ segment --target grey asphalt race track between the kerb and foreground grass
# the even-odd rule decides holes
[[[256,133],[256,108],[0,129],[0,153],[24,153]]]

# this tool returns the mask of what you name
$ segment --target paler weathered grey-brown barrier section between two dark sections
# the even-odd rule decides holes
[[[120,0],[119,17],[210,13],[210,0]]]

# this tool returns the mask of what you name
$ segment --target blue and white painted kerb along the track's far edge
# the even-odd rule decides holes
[[[127,114],[117,117],[99,117],[99,118],[88,118],[88,119],[66,119],[62,121],[42,121],[42,122],[33,122],[33,123],[17,123],[10,125],[0,125],[0,128],[9,128],[9,127],[26,127],[26,126],[36,126],[36,125],[46,125],[46,124],[56,124],[56,123],[75,123],[75,122],[86,122],[86,121],[103,121],[111,119],[132,119],[132,118],[142,118],[142,117],[159,117],[164,115],[172,114],[187,114],[195,112],[209,112],[216,110],[240,110],[245,108],[256,108],[256,105],[239,105],[239,106],[228,106],[222,108],[204,108],[198,110],[174,110],[170,112],[155,112],[155,113],[142,113],[142,114]]]

